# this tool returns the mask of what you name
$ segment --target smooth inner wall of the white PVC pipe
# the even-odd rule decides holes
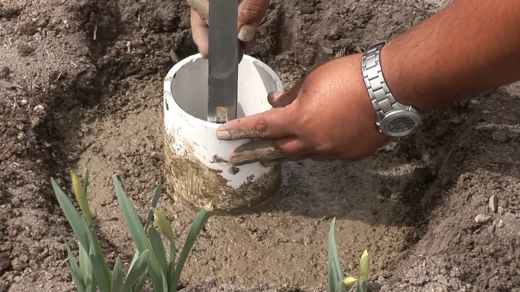
[[[186,63],[172,80],[175,102],[188,114],[207,121],[207,59]],[[271,109],[267,95],[276,91],[273,77],[250,60],[243,59],[238,67],[237,118]]]

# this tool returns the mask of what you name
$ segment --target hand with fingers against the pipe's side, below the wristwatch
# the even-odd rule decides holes
[[[361,160],[389,138],[375,125],[361,54],[338,58],[311,70],[291,90],[271,92],[266,112],[229,121],[219,140],[255,139],[235,149],[231,164],[286,160]]]

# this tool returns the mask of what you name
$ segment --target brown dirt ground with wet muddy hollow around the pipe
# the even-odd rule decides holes
[[[449,1],[271,2],[250,55],[288,88]],[[70,169],[90,169],[109,264],[131,261],[111,175],[144,217],[164,178],[163,78],[196,53],[189,22],[181,0],[0,0],[0,291],[74,290],[49,183],[69,191]],[[428,114],[365,161],[285,164],[266,210],[210,218],[185,291],[326,291],[334,216],[345,274],[368,249],[375,291],[520,291],[519,143],[513,84]],[[194,214],[166,196],[159,207],[180,246]]]

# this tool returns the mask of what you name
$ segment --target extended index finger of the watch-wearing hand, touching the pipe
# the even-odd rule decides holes
[[[270,109],[227,122],[217,129],[219,140],[283,138],[293,136],[292,108]]]

